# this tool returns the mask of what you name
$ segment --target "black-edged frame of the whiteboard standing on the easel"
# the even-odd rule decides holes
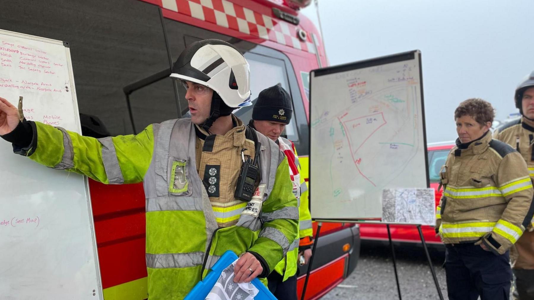
[[[417,57],[416,57],[417,56]],[[335,74],[335,73],[341,73],[341,72],[347,72],[350,70],[355,69],[361,69],[361,68],[368,68],[368,67],[374,67],[374,66],[380,66],[385,64],[392,64],[394,62],[399,61],[405,61],[405,60],[413,60],[417,58],[419,60],[419,85],[420,85],[420,92],[421,92],[421,119],[422,119],[422,129],[423,129],[423,146],[424,146],[424,153],[425,153],[425,171],[427,175],[427,188],[430,188],[430,177],[428,175],[428,147],[427,147],[427,131],[426,131],[426,122],[425,122],[425,96],[423,94],[423,72],[422,72],[422,62],[421,62],[421,51],[420,50],[412,50],[397,54],[392,54],[388,56],[382,56],[378,58],[371,58],[366,60],[360,60],[355,62],[349,62],[348,64],[343,65],[337,65],[337,66],[331,66],[331,67],[325,67],[325,68],[319,68],[319,69],[313,69],[310,71],[310,116],[312,115],[312,93],[311,93],[311,86],[312,86],[312,80],[315,76],[322,76],[322,75],[329,75],[329,74]],[[310,132],[310,143],[308,143],[308,153],[310,153],[310,159],[309,159],[309,170],[310,170],[310,183],[312,184],[312,178],[311,178],[311,122],[308,122],[308,130]],[[308,199],[309,199],[309,208],[310,212],[312,209],[312,201],[311,201],[311,188],[308,189]],[[380,219],[377,218],[358,218],[358,219],[350,219],[350,218],[319,218],[313,220],[317,222],[331,222],[331,223],[378,223],[378,224],[388,224],[386,222],[381,222]],[[389,223],[389,224],[397,224],[397,223]],[[405,224],[405,223],[403,223]],[[412,225],[419,225],[419,224],[412,224]]]

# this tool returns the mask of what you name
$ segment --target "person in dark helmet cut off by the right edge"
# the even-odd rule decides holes
[[[521,119],[510,122],[493,133],[493,138],[514,147],[529,167],[534,178],[534,72],[528,74],[515,90],[515,107]],[[534,299],[534,229],[523,233],[511,250],[512,270],[515,275],[515,299]]]

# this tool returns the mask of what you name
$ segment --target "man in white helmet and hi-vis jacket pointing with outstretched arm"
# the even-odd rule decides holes
[[[0,135],[15,153],[105,184],[143,181],[151,300],[183,299],[227,250],[240,255],[234,282],[265,278],[299,219],[287,158],[232,115],[252,104],[245,57],[221,40],[194,42],[170,76],[184,84],[191,118],[138,135],[80,136],[27,121],[0,98]],[[253,172],[240,171],[244,165]]]

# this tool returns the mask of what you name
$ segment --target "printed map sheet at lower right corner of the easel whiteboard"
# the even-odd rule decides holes
[[[382,222],[436,225],[433,188],[386,188],[382,193]]]

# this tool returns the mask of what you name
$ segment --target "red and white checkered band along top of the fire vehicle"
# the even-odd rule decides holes
[[[218,26],[315,53],[311,34],[307,34],[307,40],[303,42],[297,38],[299,27],[226,0],[162,0],[162,6]]]

